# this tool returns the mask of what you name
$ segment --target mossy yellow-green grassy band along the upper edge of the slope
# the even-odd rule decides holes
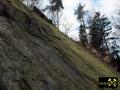
[[[79,47],[78,44],[74,43],[68,37],[63,35],[60,31],[57,30],[53,25],[50,25],[42,18],[38,17],[35,13],[30,11],[27,7],[20,4],[17,0],[9,0],[12,5],[15,6],[19,11],[16,11],[16,18],[21,23],[24,23],[23,19],[24,15],[21,13],[21,17],[17,15],[17,12],[24,12],[28,16],[30,14],[30,18],[34,18],[36,23],[39,26],[45,28],[45,32],[41,34],[41,38],[50,44],[53,48],[55,48],[59,52],[59,56],[62,57],[66,63],[72,63],[70,67],[77,68],[76,72],[81,75],[83,82],[78,80],[80,85],[92,87],[91,90],[98,90],[98,78],[100,76],[117,76],[120,80],[120,76],[118,73],[110,70],[110,68],[103,64],[100,60],[93,57],[89,52],[85,51],[82,47]],[[19,16],[19,17],[17,17]],[[37,35],[37,34],[36,34]],[[69,64],[70,65],[70,64]],[[89,86],[90,84],[90,86]],[[84,90],[84,86],[81,86],[80,90]],[[89,86],[89,87],[87,87]],[[73,90],[73,89],[72,89]],[[108,89],[107,89],[108,90]],[[119,89],[120,90],[120,87]]]

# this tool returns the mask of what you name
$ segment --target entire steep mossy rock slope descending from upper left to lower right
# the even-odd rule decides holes
[[[100,76],[120,79],[18,0],[0,0],[0,90],[109,90]]]

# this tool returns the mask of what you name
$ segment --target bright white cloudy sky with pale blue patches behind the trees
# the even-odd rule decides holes
[[[115,14],[117,1],[119,0],[63,0],[63,17],[66,17],[69,23],[73,23],[68,36],[72,37],[74,40],[79,40],[79,23],[74,15],[74,10],[77,8],[79,3],[82,3],[83,5],[85,4],[85,10],[89,10],[91,12],[100,11],[102,14],[111,18]]]

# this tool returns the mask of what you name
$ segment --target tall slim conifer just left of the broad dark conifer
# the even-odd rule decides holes
[[[77,15],[77,20],[80,22],[79,26],[79,40],[84,46],[87,44],[87,34],[86,34],[86,24],[84,20],[84,16],[86,11],[84,11],[85,5],[79,4],[77,10],[75,10],[75,15]]]

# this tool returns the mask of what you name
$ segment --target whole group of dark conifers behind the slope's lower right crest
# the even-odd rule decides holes
[[[113,31],[110,20],[100,12],[95,12],[87,22],[85,15],[89,12],[84,7],[79,4],[74,13],[80,23],[79,43],[120,71],[120,43],[117,43],[118,37],[111,35]],[[120,22],[116,22],[115,27],[120,30]]]

